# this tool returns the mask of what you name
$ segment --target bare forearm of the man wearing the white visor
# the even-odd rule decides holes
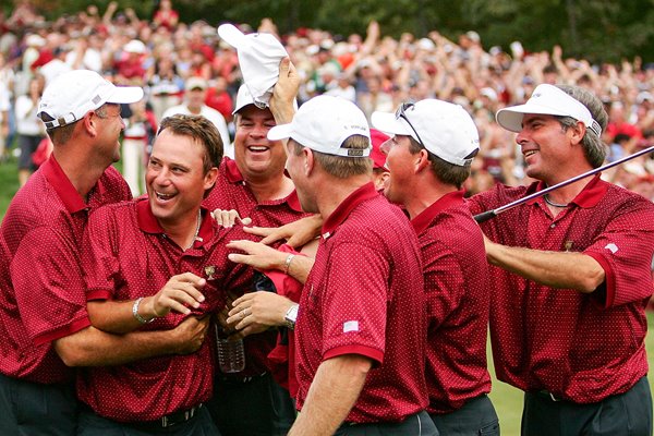
[[[582,253],[546,252],[486,241],[486,257],[492,265],[552,288],[590,293],[605,279],[597,261]]]

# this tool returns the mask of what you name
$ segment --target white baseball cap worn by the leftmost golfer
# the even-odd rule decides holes
[[[143,89],[137,86],[116,86],[95,71],[73,70],[48,84],[37,114],[39,118],[43,113],[53,118],[53,121],[44,123],[47,129],[55,129],[82,119],[89,110],[106,102],[129,104],[142,98]]]

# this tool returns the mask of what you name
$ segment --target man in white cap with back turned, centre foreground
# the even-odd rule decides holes
[[[417,240],[371,182],[365,116],[350,101],[319,96],[268,137],[290,138],[287,168],[302,208],[325,219],[300,302],[301,413],[289,435],[437,434],[424,412]]]

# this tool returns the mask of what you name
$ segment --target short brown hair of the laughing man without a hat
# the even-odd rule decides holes
[[[199,141],[204,146],[203,170],[206,174],[214,167],[218,168],[222,160],[222,140],[216,125],[203,116],[175,114],[166,117],[159,125],[159,135],[165,129],[181,136]]]

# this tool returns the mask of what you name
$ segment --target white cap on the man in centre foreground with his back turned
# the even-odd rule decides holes
[[[327,95],[314,97],[300,106],[290,124],[276,125],[268,131],[270,141],[290,137],[326,155],[370,156],[370,146],[363,149],[341,148],[343,142],[354,135],[371,138],[371,130],[361,109],[350,100]]]

